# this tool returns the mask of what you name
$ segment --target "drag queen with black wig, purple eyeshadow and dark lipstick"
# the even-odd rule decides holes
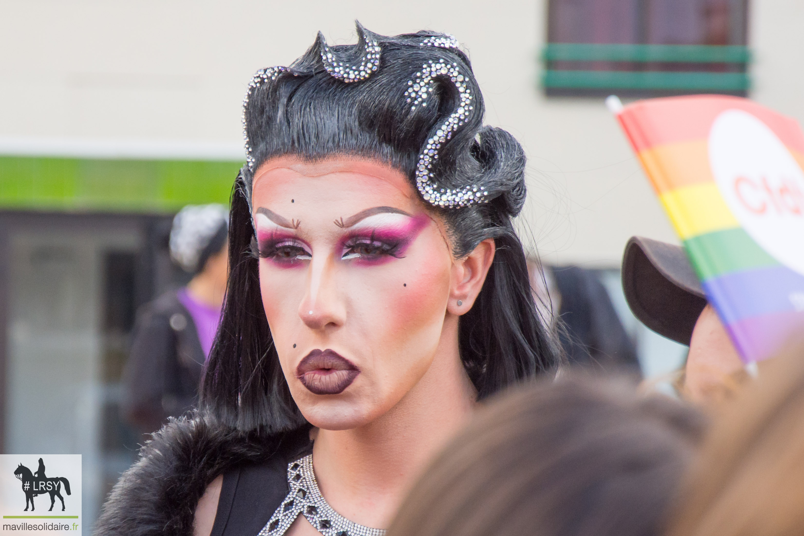
[[[511,224],[523,149],[452,36],[357,31],[249,84],[199,411],[97,534],[379,536],[478,400],[556,366]]]

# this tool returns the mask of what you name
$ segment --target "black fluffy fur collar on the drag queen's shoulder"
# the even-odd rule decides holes
[[[170,419],[114,485],[94,534],[192,536],[195,506],[215,477],[242,462],[303,448],[308,430],[260,436],[207,417]]]

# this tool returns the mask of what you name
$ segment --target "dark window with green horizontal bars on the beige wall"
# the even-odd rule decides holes
[[[548,95],[745,96],[747,0],[549,0]]]

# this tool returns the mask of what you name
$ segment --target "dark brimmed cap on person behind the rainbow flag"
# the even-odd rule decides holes
[[[632,236],[622,256],[622,290],[643,324],[689,346],[707,300],[683,248]]]

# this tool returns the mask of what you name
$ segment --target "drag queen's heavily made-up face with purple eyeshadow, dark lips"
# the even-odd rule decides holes
[[[282,157],[255,174],[265,315],[290,392],[319,428],[384,415],[428,370],[453,297],[443,224],[398,170]]]

